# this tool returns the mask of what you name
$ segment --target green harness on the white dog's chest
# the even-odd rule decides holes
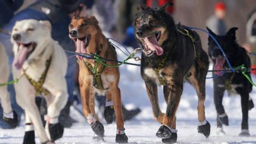
[[[48,90],[44,89],[43,84],[44,84],[47,72],[49,70],[49,67],[50,67],[50,64],[51,64],[51,60],[52,60],[52,57],[50,57],[50,59],[46,61],[46,63],[45,63],[46,68],[45,68],[42,76],[39,78],[38,82],[36,82],[34,79],[29,77],[25,73],[25,76],[28,79],[29,83],[35,87],[36,95],[43,95],[43,94],[44,95],[48,95],[48,94],[50,94],[50,92]]]

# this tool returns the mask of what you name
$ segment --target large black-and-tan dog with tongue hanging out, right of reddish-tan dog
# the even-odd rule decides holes
[[[205,120],[205,77],[209,67],[206,52],[195,31],[175,25],[166,7],[151,9],[138,6],[135,16],[135,37],[142,45],[141,76],[153,108],[154,117],[162,126],[156,135],[165,143],[177,141],[175,112],[177,111],[183,81],[192,84],[198,95],[198,132],[210,135],[210,124]],[[164,85],[166,113],[159,108],[157,83]]]

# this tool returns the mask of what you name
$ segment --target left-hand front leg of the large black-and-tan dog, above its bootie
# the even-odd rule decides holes
[[[162,113],[162,111],[159,107],[158,95],[157,95],[157,85],[155,82],[153,82],[149,79],[145,81],[145,84],[146,84],[146,90],[148,93],[148,97],[149,97],[149,100],[151,102],[151,106],[153,109],[154,118],[156,119],[156,121],[158,123],[162,123],[164,114]]]

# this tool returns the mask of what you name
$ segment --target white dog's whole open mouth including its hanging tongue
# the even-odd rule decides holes
[[[13,60],[13,66],[18,70],[22,68],[24,62],[28,59],[29,55],[34,52],[36,49],[36,43],[17,43],[18,44],[18,53],[15,55]]]

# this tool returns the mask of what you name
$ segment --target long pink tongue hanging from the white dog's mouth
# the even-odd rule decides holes
[[[18,51],[17,55],[15,55],[12,65],[15,68],[17,68],[18,70],[20,70],[23,66],[23,63],[27,59],[28,53],[29,53],[28,48],[25,47],[23,44],[21,44],[19,46],[19,51]]]

